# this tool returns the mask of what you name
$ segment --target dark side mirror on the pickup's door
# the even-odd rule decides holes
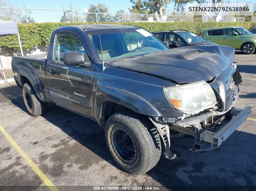
[[[86,60],[87,61],[85,61],[84,55],[78,51],[67,52],[63,56],[63,62],[66,65],[83,65],[86,68],[91,68],[91,62],[89,61],[89,58],[87,58]]]

